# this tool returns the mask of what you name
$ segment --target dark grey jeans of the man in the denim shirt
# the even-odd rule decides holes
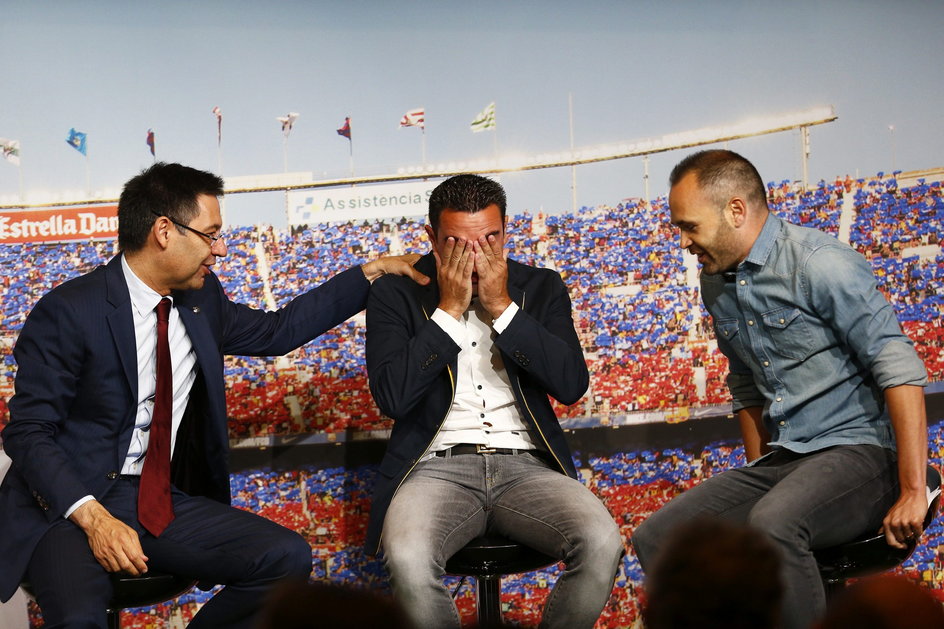
[[[636,529],[632,544],[646,570],[658,560],[673,526],[694,517],[717,515],[753,526],[780,549],[783,629],[805,629],[826,606],[813,549],[878,531],[897,498],[896,458],[890,450],[874,445],[809,454],[777,450],[669,501]]]

